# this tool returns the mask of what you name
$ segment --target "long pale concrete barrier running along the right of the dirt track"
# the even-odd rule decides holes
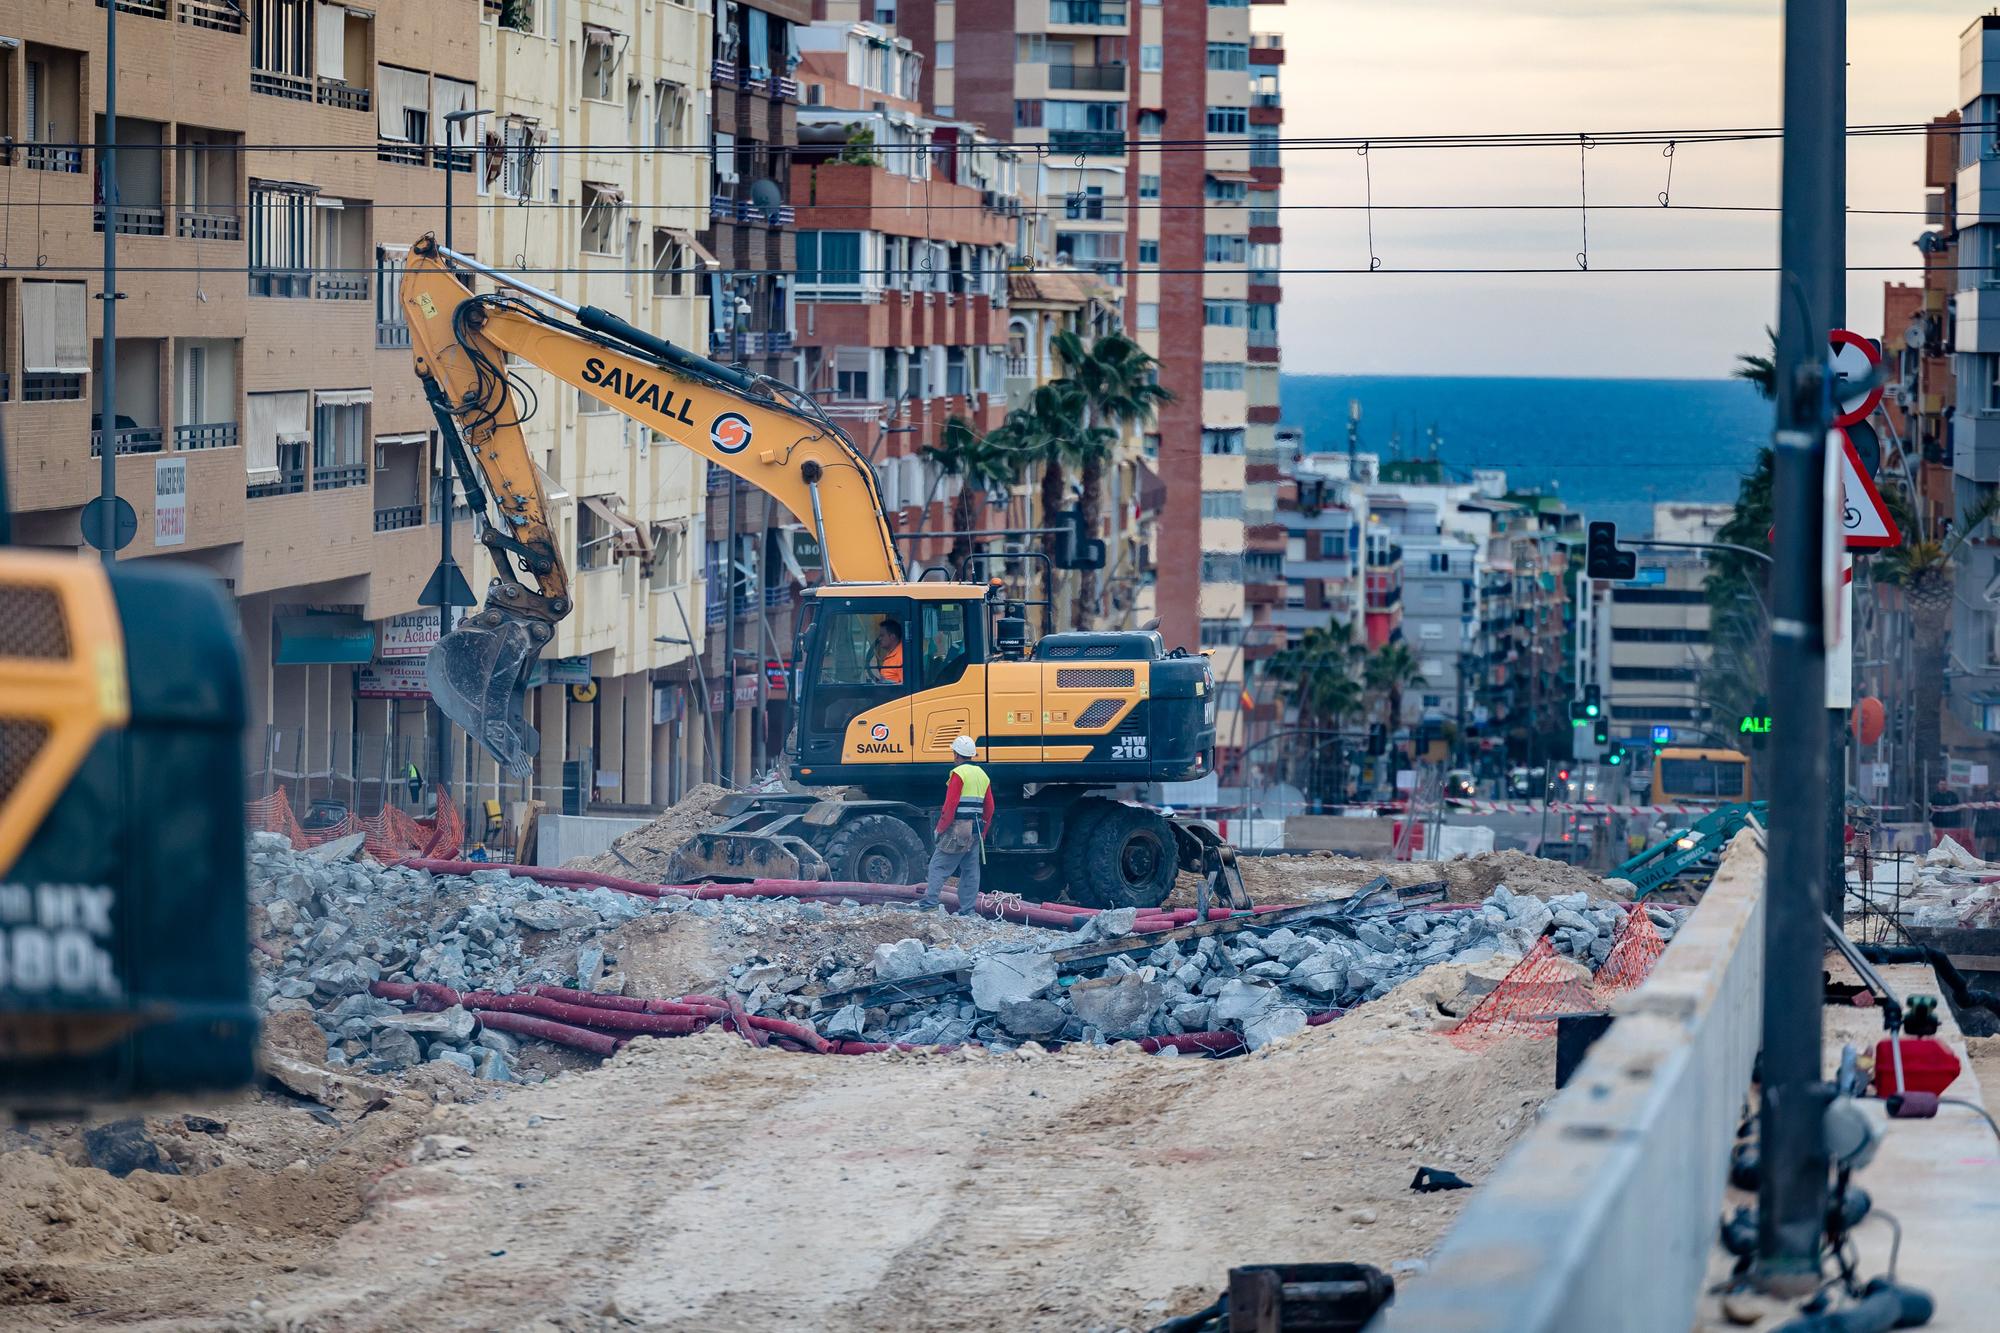
[[[1750,1089],[1764,853],[1746,831],[1652,977],[1478,1187],[1390,1333],[1686,1333]]]

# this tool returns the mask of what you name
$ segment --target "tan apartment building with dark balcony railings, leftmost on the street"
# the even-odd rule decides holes
[[[120,558],[220,576],[248,644],[256,781],[374,809],[424,771],[412,656],[438,560],[438,444],[382,246],[442,222],[460,170],[478,10],[416,0],[148,0],[118,6],[116,196],[98,200],[102,6],[24,0],[0,18],[0,412],[16,540],[76,548],[98,450],[138,514]],[[312,148],[300,148],[310,144]],[[110,206],[106,206],[106,202]],[[98,336],[102,228],[118,340]],[[112,420],[98,384],[116,368]],[[108,428],[108,438],[106,438]],[[470,530],[460,528],[460,560]],[[414,673],[420,677],[420,673]]]

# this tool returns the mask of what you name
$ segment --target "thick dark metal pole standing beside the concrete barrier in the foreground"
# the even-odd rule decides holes
[[[1764,1055],[1758,1129],[1758,1283],[1804,1295],[1820,1283],[1828,1157],[1820,1117],[1820,935],[1826,875],[1826,334],[1840,274],[1834,230],[1844,226],[1836,178],[1846,132],[1838,86],[1846,78],[1844,6],[1786,0],[1784,180],[1778,278],[1778,356],[1772,516],[1772,745],[1786,781],[1772,793],[1764,925]]]

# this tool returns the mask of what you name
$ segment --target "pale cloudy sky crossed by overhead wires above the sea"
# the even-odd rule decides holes
[[[1584,132],[1776,126],[1782,0],[1288,0],[1256,8],[1284,32],[1284,134]],[[1958,100],[1958,34],[1984,6],[1850,0],[1848,124],[1916,122]],[[1284,158],[1284,264],[1366,266],[1372,176],[1378,272],[1284,278],[1292,374],[1724,376],[1762,350],[1772,274],[1396,276],[1394,268],[1774,264],[1776,214],[1658,208],[1658,146],[1392,150]],[[1580,170],[1584,180],[1580,180]],[[1688,144],[1676,204],[1776,204],[1778,146]],[[1386,204],[1536,202],[1546,212],[1394,212]],[[1848,264],[1916,264],[1922,138],[1850,140]],[[1882,334],[1882,282],[1850,272],[1848,326]]]

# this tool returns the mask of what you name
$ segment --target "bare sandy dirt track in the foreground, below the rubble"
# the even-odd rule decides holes
[[[246,1099],[148,1121],[184,1177],[42,1131],[0,1157],[0,1329],[1144,1329],[1232,1263],[1432,1247],[1466,1195],[1416,1167],[1482,1181],[1554,1081],[1432,1031],[1458,977],[1234,1061],[712,1033],[340,1125]]]

